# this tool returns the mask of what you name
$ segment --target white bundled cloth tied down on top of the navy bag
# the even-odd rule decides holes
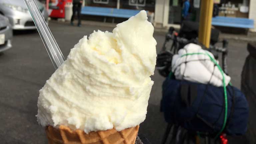
[[[191,53],[197,53],[192,54]],[[178,51],[172,58],[172,72],[176,79],[188,80],[203,84],[211,84],[217,87],[223,86],[223,77],[221,71],[211,61],[213,54],[203,50],[196,44],[188,44]],[[187,55],[186,55],[187,54]],[[217,61],[217,60],[216,60]],[[218,61],[217,61],[218,63]],[[224,73],[225,84],[228,85],[230,77]]]

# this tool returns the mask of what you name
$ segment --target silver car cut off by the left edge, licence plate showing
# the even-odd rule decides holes
[[[12,28],[7,17],[0,14],[0,52],[12,47]]]

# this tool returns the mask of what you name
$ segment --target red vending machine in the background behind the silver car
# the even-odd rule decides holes
[[[65,18],[65,5],[72,0],[49,0],[49,16],[52,18]]]

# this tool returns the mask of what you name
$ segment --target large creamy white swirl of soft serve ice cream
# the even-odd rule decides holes
[[[80,39],[39,91],[38,122],[86,133],[143,122],[156,64],[153,31],[141,11],[112,33]]]

